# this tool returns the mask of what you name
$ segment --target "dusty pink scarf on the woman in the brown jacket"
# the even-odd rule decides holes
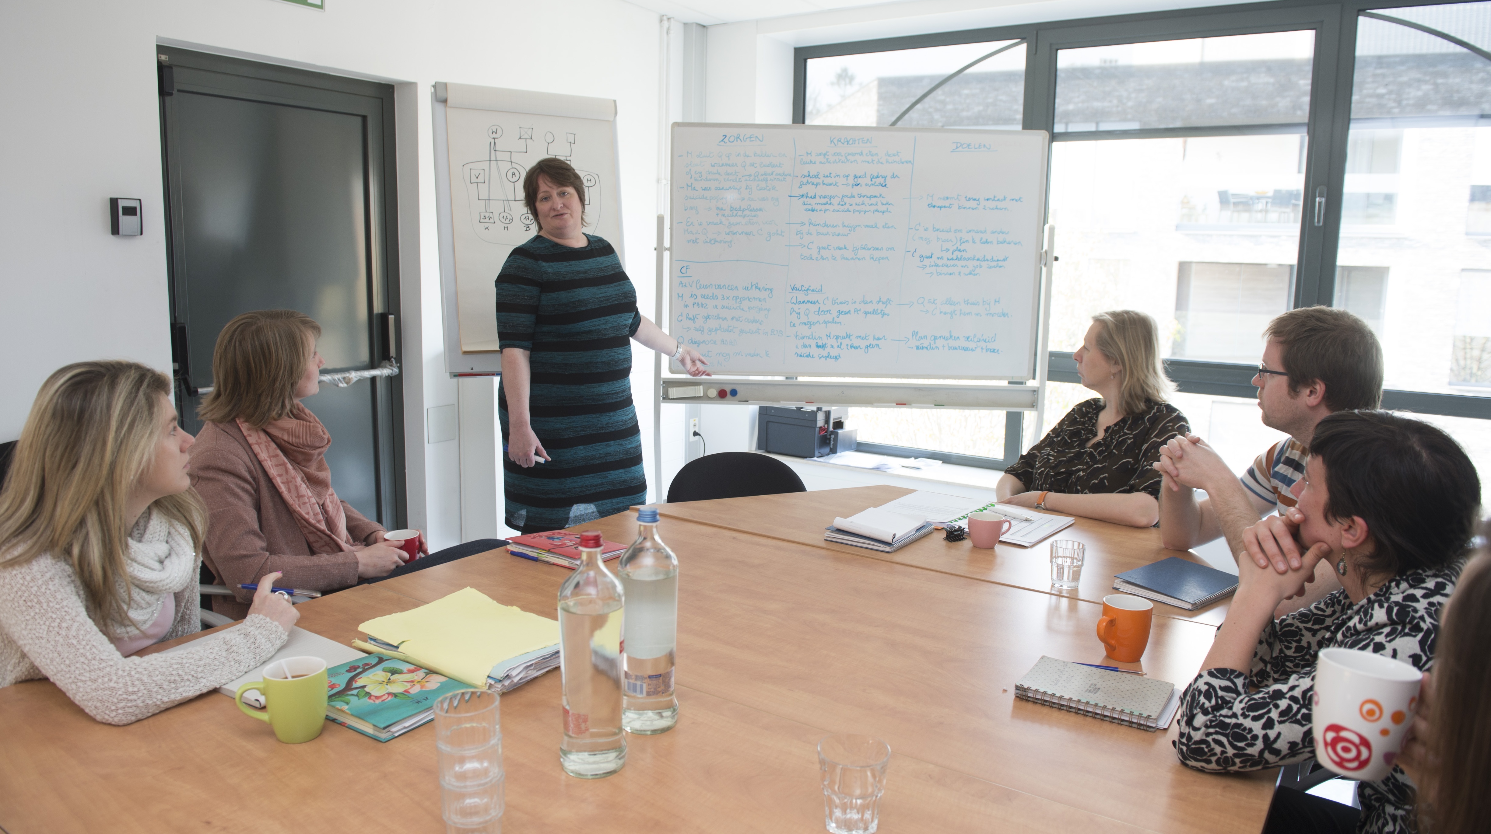
[[[274,420],[262,429],[239,420],[239,429],[285,499],[285,506],[295,515],[310,551],[353,550],[341,499],[331,488],[331,468],[327,466],[331,435],[321,420],[297,402],[289,417]]]

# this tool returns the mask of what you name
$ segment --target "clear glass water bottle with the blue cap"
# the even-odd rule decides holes
[[[626,548],[616,572],[626,591],[626,707],[628,733],[666,733],[678,722],[672,693],[674,649],[678,636],[678,557],[658,538],[658,509],[637,512],[637,541]]]

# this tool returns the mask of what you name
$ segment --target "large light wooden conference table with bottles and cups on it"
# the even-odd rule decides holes
[[[862,497],[835,493],[863,488],[796,500]],[[1014,698],[1014,682],[1042,654],[1103,658],[1093,636],[1099,606],[1081,599],[1091,554],[1084,587],[1063,597],[997,572],[971,578],[732,529],[748,503],[713,503],[713,524],[683,520],[674,505],[661,526],[683,563],[678,727],[628,737],[625,770],[580,780],[558,763],[559,675],[502,695],[505,831],[823,831],[814,745],[839,731],[880,736],[895,751],[887,834],[1261,827],[1270,773],[1197,773],[1176,763],[1173,728],[1145,733]],[[626,541],[634,518],[586,527]],[[1120,541],[1124,532],[1082,533]],[[300,627],[346,642],[371,617],[468,585],[549,615],[565,576],[492,551],[303,603]],[[1127,666],[1184,684],[1212,631],[1157,617],[1142,663]],[[328,724],[315,742],[280,745],[207,693],[107,727],[46,681],[0,690],[0,722],[7,834],[443,831],[428,725],[380,745]]]

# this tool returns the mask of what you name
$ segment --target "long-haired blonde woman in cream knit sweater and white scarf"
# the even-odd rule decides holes
[[[270,573],[242,624],[133,657],[201,628],[191,444],[158,371],[79,362],[46,380],[0,491],[0,687],[49,678],[95,719],[130,724],[285,645],[300,615]]]

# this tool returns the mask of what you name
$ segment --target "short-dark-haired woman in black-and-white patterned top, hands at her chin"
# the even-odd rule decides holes
[[[1348,648],[1428,670],[1439,612],[1464,566],[1481,483],[1446,433],[1387,411],[1320,421],[1293,488],[1299,503],[1248,527],[1238,593],[1202,672],[1181,700],[1181,761],[1197,770],[1261,770],[1315,755],[1311,730],[1320,649]],[[1273,530],[1264,532],[1263,527]],[[1297,539],[1299,554],[1278,550]],[[1306,550],[1308,548],[1308,550]],[[1342,590],[1273,620],[1328,560]],[[1264,831],[1409,833],[1412,782],[1394,768],[1349,806],[1279,791]]]

